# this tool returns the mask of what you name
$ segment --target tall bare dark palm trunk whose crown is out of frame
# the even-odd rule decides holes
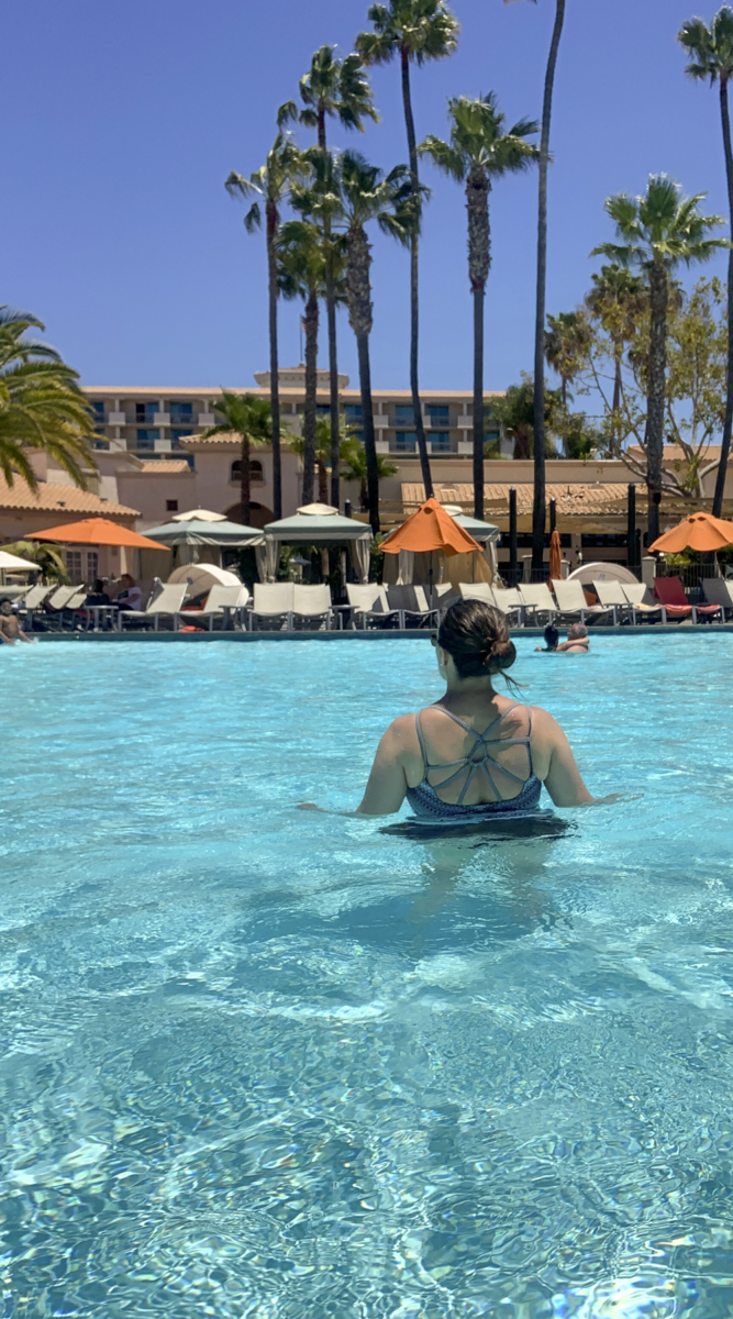
[[[534,319],[534,503],[531,517],[531,566],[542,571],[544,562],[544,303],[547,286],[547,164],[550,158],[550,119],[555,65],[566,17],[566,0],[555,3],[555,25],[544,74],[542,137],[539,142],[539,206],[537,223],[537,309]]]

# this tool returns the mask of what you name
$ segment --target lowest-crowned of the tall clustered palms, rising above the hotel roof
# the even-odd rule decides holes
[[[302,298],[305,303],[303,504],[312,504],[318,389],[318,299],[326,294],[326,259],[322,235],[311,220],[286,220],[276,239],[274,251],[279,291],[283,298]]]

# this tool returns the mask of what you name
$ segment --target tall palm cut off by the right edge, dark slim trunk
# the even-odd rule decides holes
[[[691,78],[709,78],[711,86],[717,82],[720,92],[720,120],[722,125],[722,148],[725,152],[725,181],[728,185],[728,215],[733,233],[733,150],[730,148],[730,117],[728,113],[728,82],[733,77],[733,9],[724,5],[718,9],[709,28],[703,18],[689,18],[683,22],[678,41],[692,55],[686,73]],[[713,517],[722,516],[722,495],[730,455],[730,431],[733,429],[733,248],[728,253],[728,368],[725,379],[725,419],[720,446],[720,464],[715,483]]]

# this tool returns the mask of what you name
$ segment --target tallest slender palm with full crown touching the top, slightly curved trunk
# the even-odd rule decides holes
[[[410,181],[415,206],[419,208],[423,194],[418,178],[418,148],[410,92],[410,63],[414,61],[421,66],[426,59],[444,59],[447,55],[452,55],[457,46],[459,21],[448,9],[446,0],[388,0],[388,4],[370,5],[368,17],[374,30],[361,32],[356,38],[356,49],[364,63],[386,65],[394,55],[399,58],[402,106],[410,157]],[[418,241],[419,224],[415,223],[410,240],[410,392],[413,394],[415,434],[418,437],[422,479],[427,499],[432,495],[432,477],[430,475],[418,379]]]

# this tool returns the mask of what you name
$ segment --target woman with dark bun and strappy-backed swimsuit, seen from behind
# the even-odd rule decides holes
[[[405,797],[415,815],[434,822],[527,813],[543,783],[555,806],[601,801],[585,787],[552,715],[494,691],[497,674],[515,686],[506,670],[517,652],[500,609],[456,600],[432,644],[446,694],[389,725],[359,815],[392,815]]]

